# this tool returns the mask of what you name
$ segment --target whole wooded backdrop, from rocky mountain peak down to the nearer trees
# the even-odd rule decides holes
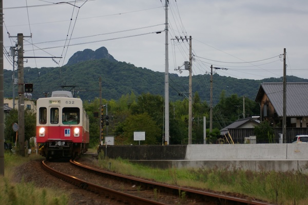
[[[15,73],[17,77],[17,71]],[[132,64],[113,59],[107,49],[91,51],[86,49],[75,53],[68,65],[49,68],[25,68],[24,82],[33,83],[33,99],[50,96],[53,90],[73,90],[76,97],[84,100],[90,117],[91,144],[97,146],[100,139],[99,118],[94,117],[100,109],[98,99],[99,79],[102,79],[102,103],[108,109],[109,125],[104,135],[114,135],[117,144],[133,144],[133,131],[145,131],[145,144],[160,144],[164,127],[164,85],[165,73],[135,67]],[[4,70],[4,96],[12,97],[12,71]],[[287,82],[307,82],[306,79],[287,77]],[[282,82],[282,79],[247,80],[213,76],[213,131],[207,133],[207,143],[216,143],[220,129],[241,118],[260,115],[255,98],[262,82]],[[187,144],[188,133],[188,77],[169,74],[170,97],[170,144]],[[192,143],[203,143],[203,117],[209,119],[210,75],[192,77]],[[15,86],[17,96],[17,86]],[[245,97],[245,101],[243,98]],[[245,102],[245,105],[243,105]],[[243,111],[243,108],[245,110]],[[14,111],[14,110],[13,110]],[[16,113],[15,113],[16,114]],[[26,111],[27,122],[33,120],[33,113]],[[15,116],[15,118],[14,118]],[[6,127],[17,121],[17,115],[7,118]],[[206,127],[209,127],[208,120]],[[31,129],[31,128],[29,128]],[[32,128],[33,130],[33,128]],[[109,133],[108,133],[109,131]],[[33,136],[33,133],[28,133]],[[11,128],[6,129],[6,139],[13,136]]]

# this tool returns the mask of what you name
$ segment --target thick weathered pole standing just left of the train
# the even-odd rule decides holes
[[[25,97],[24,97],[24,35],[17,34],[18,63],[18,141],[20,155],[25,156]]]

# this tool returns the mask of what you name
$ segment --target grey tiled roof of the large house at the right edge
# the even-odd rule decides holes
[[[283,116],[283,83],[262,83],[256,101],[263,94],[274,106],[278,116]],[[286,116],[308,116],[308,83],[286,83]]]

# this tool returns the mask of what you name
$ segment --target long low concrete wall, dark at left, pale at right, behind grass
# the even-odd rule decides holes
[[[167,168],[300,171],[308,174],[308,144],[100,146],[109,158]]]

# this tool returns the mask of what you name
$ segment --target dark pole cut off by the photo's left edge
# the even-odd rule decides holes
[[[4,176],[3,1],[0,1],[0,174]]]

